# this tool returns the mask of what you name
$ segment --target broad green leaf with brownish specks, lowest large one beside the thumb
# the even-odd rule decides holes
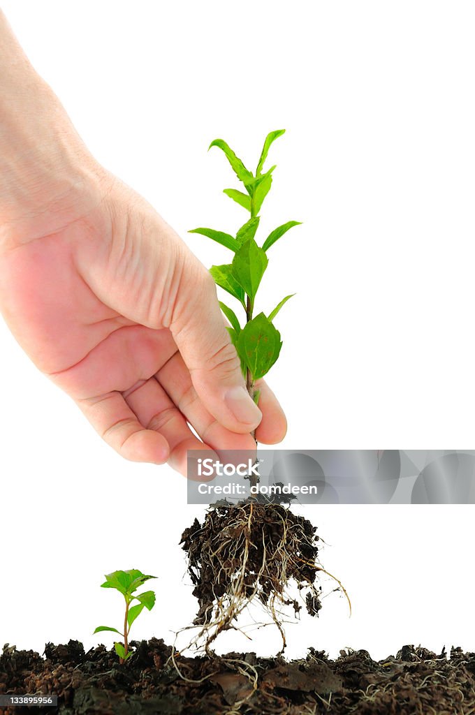
[[[280,332],[264,313],[250,320],[237,338],[237,352],[254,380],[268,373],[279,357],[281,347]]]

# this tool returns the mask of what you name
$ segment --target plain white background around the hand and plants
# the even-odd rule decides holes
[[[147,197],[210,265],[243,209],[215,137],[278,164],[260,237],[273,247],[262,308],[278,319],[270,384],[285,448],[473,447],[475,8],[471,2],[4,0],[36,69],[89,148]],[[4,71],[2,68],[1,71]],[[270,164],[269,164],[270,165]],[[116,568],[155,573],[134,636],[172,640],[195,612],[180,534],[197,507],[167,467],[121,460],[0,326],[0,646],[90,647],[120,623],[101,590]],[[421,642],[475,649],[473,513],[466,507],[312,507],[338,594],[288,628],[382,658]],[[270,628],[218,650],[273,653]]]

